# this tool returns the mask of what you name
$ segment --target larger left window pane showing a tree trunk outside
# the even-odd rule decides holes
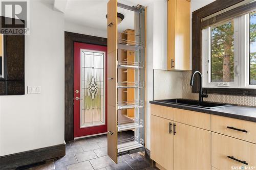
[[[234,81],[233,20],[211,27],[211,82]]]

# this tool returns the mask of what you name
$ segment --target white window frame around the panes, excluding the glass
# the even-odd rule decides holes
[[[203,87],[256,88],[249,84],[249,18],[249,14],[234,18],[234,82],[211,82],[211,27],[202,30]]]

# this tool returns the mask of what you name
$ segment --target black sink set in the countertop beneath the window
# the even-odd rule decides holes
[[[156,101],[163,102],[163,103],[173,103],[173,104],[179,104],[179,105],[185,105],[185,106],[200,107],[200,108],[206,108],[206,109],[215,109],[220,107],[233,106],[230,104],[214,103],[214,102],[199,102],[196,100],[187,100],[187,99],[166,99],[166,100],[156,100]]]

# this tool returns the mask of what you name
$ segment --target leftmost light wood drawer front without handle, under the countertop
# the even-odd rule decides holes
[[[151,114],[170,120],[174,119],[175,108],[151,104]]]

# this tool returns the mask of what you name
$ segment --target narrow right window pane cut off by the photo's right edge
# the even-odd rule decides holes
[[[250,84],[256,84],[256,12],[250,13]]]

